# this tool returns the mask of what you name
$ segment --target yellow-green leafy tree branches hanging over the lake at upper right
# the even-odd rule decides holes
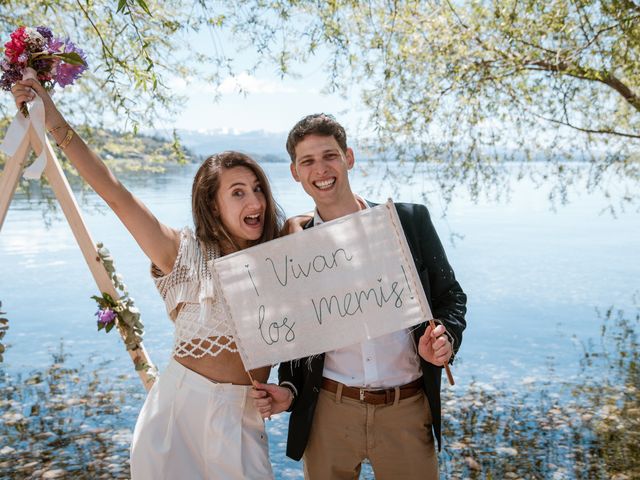
[[[638,9],[598,0],[239,3],[251,21],[220,13],[236,37],[283,74],[326,52],[328,90],[360,94],[369,113],[366,146],[440,164],[445,199],[460,186],[474,198],[503,190],[508,160],[555,167],[586,157],[599,171],[623,165],[640,200]],[[571,181],[570,169],[558,173],[548,182]]]

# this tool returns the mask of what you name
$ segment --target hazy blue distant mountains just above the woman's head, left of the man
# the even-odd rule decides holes
[[[198,156],[209,156],[224,150],[238,150],[265,162],[287,162],[285,149],[287,134],[264,130],[242,133],[222,131],[178,130],[182,145]],[[172,131],[157,130],[152,135],[171,138]]]

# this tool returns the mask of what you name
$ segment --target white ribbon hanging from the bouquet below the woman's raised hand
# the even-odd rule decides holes
[[[33,77],[28,76],[28,73],[25,72],[23,78]],[[46,128],[44,124],[44,103],[42,102],[42,99],[38,95],[36,95],[36,98],[33,100],[33,102],[28,105],[28,108],[28,118],[25,118],[25,116],[20,111],[18,111],[18,113],[16,113],[16,116],[13,117],[11,125],[9,125],[4,140],[2,141],[2,145],[0,145],[0,150],[13,159],[24,140],[24,137],[29,135],[29,129],[33,128],[33,132],[35,133],[35,136],[38,139],[40,145],[34,145],[34,142],[31,142],[31,147],[36,151],[37,158],[35,162],[33,162],[24,170],[23,176],[24,178],[29,180],[37,180],[42,176],[44,167],[47,165],[47,154],[46,149],[44,148],[46,141]],[[19,162],[23,161],[22,158],[13,160]]]

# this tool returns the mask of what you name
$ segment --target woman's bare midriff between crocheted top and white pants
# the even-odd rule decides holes
[[[176,361],[203,377],[218,383],[233,383],[235,385],[251,385],[249,375],[244,369],[239,353],[228,350],[219,352],[215,357],[205,355],[201,358],[174,357]],[[251,376],[258,382],[265,383],[269,378],[271,367],[251,370]]]

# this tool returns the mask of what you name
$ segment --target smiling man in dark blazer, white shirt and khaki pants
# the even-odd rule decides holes
[[[354,154],[333,117],[300,120],[287,151],[293,178],[316,205],[305,228],[375,205],[351,190]],[[426,207],[398,203],[396,209],[436,328],[425,322],[282,363],[280,386],[259,384],[253,392],[263,417],[291,412],[287,455],[304,459],[308,480],[357,478],[364,459],[378,480],[438,478],[441,371],[460,347],[466,295]]]

